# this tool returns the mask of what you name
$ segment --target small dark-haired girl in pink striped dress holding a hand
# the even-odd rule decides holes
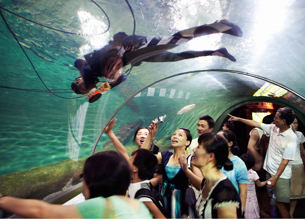
[[[258,207],[254,182],[257,186],[262,187],[267,184],[267,181],[260,182],[260,177],[258,177],[257,173],[251,169],[255,163],[255,159],[252,155],[243,154],[240,156],[240,159],[245,162],[249,175],[249,180],[247,181],[245,218],[260,218],[260,208]]]

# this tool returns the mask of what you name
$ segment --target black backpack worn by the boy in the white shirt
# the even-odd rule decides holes
[[[139,189],[137,191],[137,193],[135,193],[135,198],[139,199],[141,197],[147,197],[150,198],[152,200],[153,203],[155,203],[155,205],[159,208],[159,210],[161,211],[161,213],[166,217],[166,218],[170,218],[170,213],[168,212],[168,210],[163,207],[164,206],[164,200],[163,200],[163,196],[158,193],[155,189]],[[161,202],[161,204],[160,204]]]

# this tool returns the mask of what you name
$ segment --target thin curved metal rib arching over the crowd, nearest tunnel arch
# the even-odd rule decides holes
[[[110,116],[110,118],[107,120],[106,124],[104,127],[108,126],[109,122],[113,119],[113,117],[117,114],[117,112],[129,101],[131,100],[132,98],[134,98],[138,93],[142,92],[143,90],[151,87],[152,85],[155,85],[159,82],[162,82],[164,80],[167,80],[169,78],[174,78],[176,76],[179,76],[179,75],[186,75],[186,74],[190,74],[190,73],[197,73],[197,72],[209,72],[209,71],[218,71],[218,72],[230,72],[230,73],[236,73],[236,74],[240,74],[240,75],[247,75],[247,76],[250,76],[250,77],[253,77],[253,78],[258,78],[258,79],[261,79],[263,81],[267,81],[267,82],[270,82],[274,85],[277,85],[283,89],[286,89],[287,91],[293,93],[294,95],[300,97],[301,99],[303,99],[305,101],[305,97],[303,97],[302,95],[300,95],[299,93],[297,93],[296,91],[292,90],[292,89],[289,89],[287,88],[286,86],[284,85],[281,85],[275,81],[272,81],[268,78],[264,78],[264,77],[261,77],[261,76],[258,76],[258,75],[252,75],[252,74],[249,74],[249,73],[246,73],[246,72],[243,72],[243,71],[234,71],[234,70],[228,70],[228,69],[206,69],[206,70],[197,70],[197,71],[187,71],[187,72],[183,72],[183,73],[179,73],[179,74],[176,74],[176,75],[171,75],[171,76],[168,76],[168,77],[165,77],[165,78],[162,78],[156,82],[153,82],[152,84],[150,85],[147,85],[146,87],[142,88],[141,90],[139,90],[138,92],[136,92],[135,94],[133,94],[131,97],[129,97],[124,103],[122,103],[121,106],[119,106],[119,108],[117,108],[117,110]],[[99,139],[101,138],[103,132],[104,132],[104,127],[102,128],[99,136],[96,138],[95,140],[95,143],[94,143],[94,146],[92,148],[92,151],[91,151],[91,155],[94,154],[95,152],[95,149],[96,149],[96,146],[97,144],[99,143]]]

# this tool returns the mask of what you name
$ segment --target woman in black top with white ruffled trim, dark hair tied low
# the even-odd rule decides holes
[[[205,133],[198,138],[198,147],[193,149],[194,159],[191,164],[198,167],[204,179],[197,203],[197,218],[241,218],[241,201],[239,195],[221,167],[230,170],[232,162],[228,160],[228,144],[219,135]],[[179,159],[185,169],[184,156]]]

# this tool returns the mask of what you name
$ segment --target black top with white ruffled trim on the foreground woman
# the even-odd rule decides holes
[[[218,218],[217,208],[226,205],[236,206],[237,218],[242,218],[242,204],[239,195],[227,178],[219,179],[212,187],[206,199],[202,198],[202,191],[205,179],[202,180],[200,195],[196,203],[197,218]]]

